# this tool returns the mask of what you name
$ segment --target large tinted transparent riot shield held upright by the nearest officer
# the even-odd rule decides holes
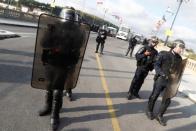
[[[85,24],[42,14],[39,17],[31,86],[47,89],[51,82],[47,68],[61,68],[66,71],[65,87],[77,84],[90,27]]]

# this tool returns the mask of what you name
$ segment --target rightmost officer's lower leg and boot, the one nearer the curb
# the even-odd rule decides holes
[[[157,121],[162,125],[162,126],[166,126],[167,123],[166,121],[163,119],[163,114],[166,112],[167,108],[169,107],[171,103],[171,99],[167,98],[166,100],[162,100],[161,106],[159,108],[159,113],[156,117]]]

